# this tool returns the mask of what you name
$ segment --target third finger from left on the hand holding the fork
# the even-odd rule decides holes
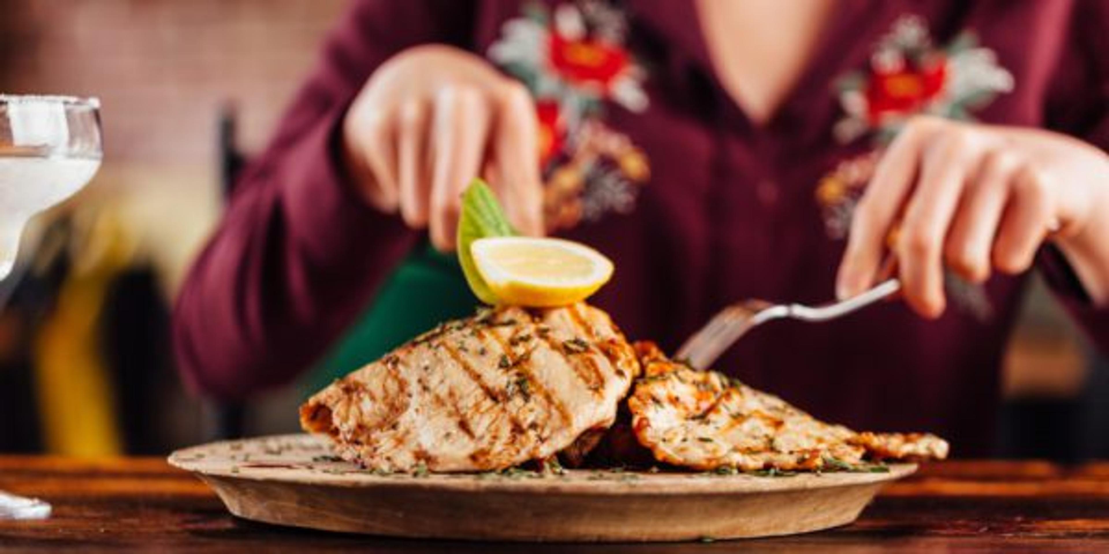
[[[989,278],[990,252],[1016,168],[1011,154],[993,151],[963,194],[944,245],[944,258],[948,267],[971,283]]]

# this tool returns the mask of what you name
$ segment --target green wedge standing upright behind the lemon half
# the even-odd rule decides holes
[[[462,213],[458,216],[458,263],[462,265],[462,274],[470,290],[481,301],[490,305],[499,304],[500,299],[492,293],[489,285],[481,278],[470,245],[479,238],[509,237],[516,235],[516,229],[505,217],[505,211],[497,202],[489,185],[480,178],[475,178],[462,193]]]

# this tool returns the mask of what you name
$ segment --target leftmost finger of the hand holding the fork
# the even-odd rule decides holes
[[[836,277],[836,296],[866,290],[882,263],[885,237],[893,227],[916,178],[919,150],[932,134],[930,120],[913,120],[882,155],[866,194],[852,216],[851,233]]]

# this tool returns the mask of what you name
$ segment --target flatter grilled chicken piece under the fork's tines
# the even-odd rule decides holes
[[[635,348],[644,377],[628,399],[632,430],[661,462],[698,470],[820,470],[947,456],[937,437],[856,433],[715,371],[673,362],[653,343]]]

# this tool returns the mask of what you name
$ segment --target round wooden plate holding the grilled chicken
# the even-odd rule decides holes
[[[305,434],[214,442],[170,456],[231,513],[377,535],[496,541],[689,541],[804,533],[855,521],[916,471],[793,476],[568,470],[564,475],[379,475]]]

